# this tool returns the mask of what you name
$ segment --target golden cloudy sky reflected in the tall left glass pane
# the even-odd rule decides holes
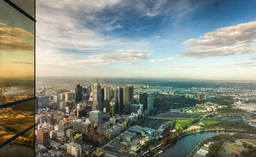
[[[34,22],[0,1],[0,77],[34,77]]]

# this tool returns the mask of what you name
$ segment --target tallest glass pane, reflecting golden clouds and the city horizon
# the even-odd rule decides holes
[[[0,104],[34,96],[34,26],[0,1]]]

